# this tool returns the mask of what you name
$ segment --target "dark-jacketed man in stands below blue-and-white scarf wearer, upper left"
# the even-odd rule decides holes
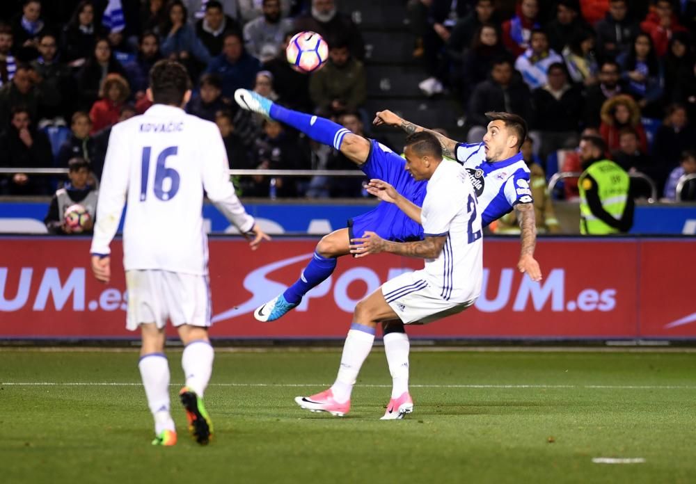
[[[39,118],[56,118],[58,124],[64,125],[73,104],[74,81],[70,67],[58,59],[57,47],[58,40],[53,33],[42,33],[38,44],[41,55],[31,66],[41,79]]]

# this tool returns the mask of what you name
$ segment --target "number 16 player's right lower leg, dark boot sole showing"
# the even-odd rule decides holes
[[[189,432],[201,445],[207,444],[213,436],[213,424],[203,404],[203,393],[212,374],[213,358],[213,348],[207,339],[190,341],[181,358],[186,386],[179,392],[179,399],[186,410]]]

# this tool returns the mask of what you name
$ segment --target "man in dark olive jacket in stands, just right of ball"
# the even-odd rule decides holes
[[[367,98],[365,83],[363,63],[351,56],[345,40],[338,39],[329,45],[329,61],[310,77],[309,94],[321,111],[356,111]]]

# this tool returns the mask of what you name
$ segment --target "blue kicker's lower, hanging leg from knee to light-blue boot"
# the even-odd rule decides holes
[[[335,230],[324,236],[299,279],[285,289],[285,292],[256,308],[254,317],[262,322],[276,321],[299,305],[310,289],[317,287],[333,274],[337,257],[349,254],[348,239],[348,229]]]

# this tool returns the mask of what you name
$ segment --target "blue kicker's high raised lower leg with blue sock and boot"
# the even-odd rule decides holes
[[[247,111],[260,113],[276,121],[290,124],[294,129],[303,132],[313,140],[323,145],[333,146],[336,150],[340,150],[343,138],[350,133],[348,129],[331,120],[278,106],[270,99],[251,90],[237,89],[235,101]]]

